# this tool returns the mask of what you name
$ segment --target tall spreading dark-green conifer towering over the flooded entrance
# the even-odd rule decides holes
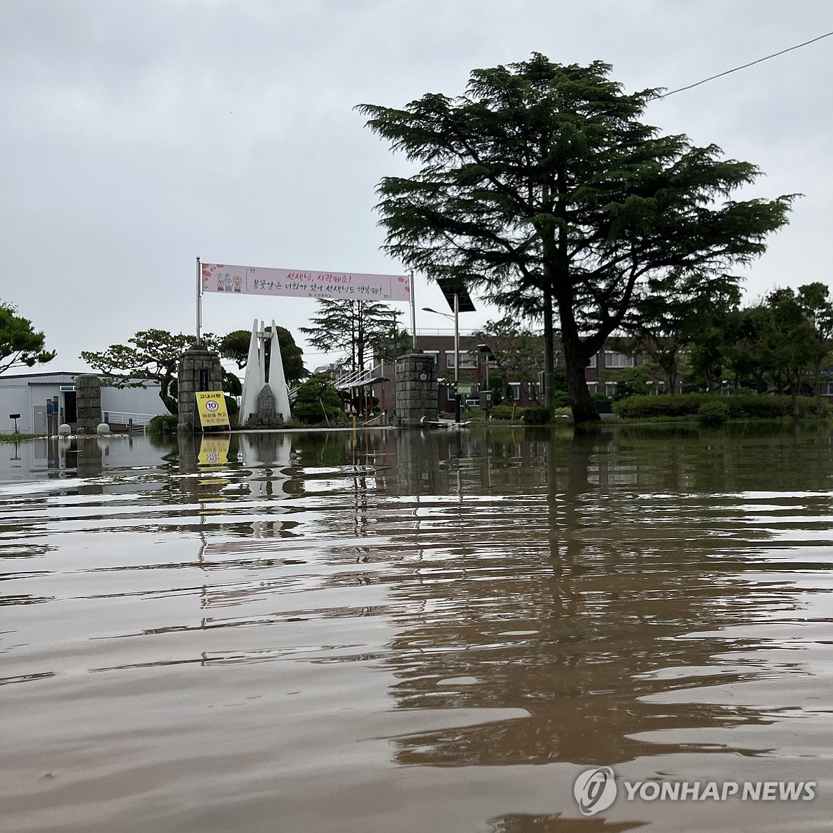
[[[576,421],[598,418],[581,371],[651,279],[751,261],[793,199],[730,199],[758,169],[642,123],[657,91],[626,94],[610,72],[533,53],[474,70],[456,97],[358,107],[421,166],[379,184],[387,252],[541,320],[549,368],[558,321]]]

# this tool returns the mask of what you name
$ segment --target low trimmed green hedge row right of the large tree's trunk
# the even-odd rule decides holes
[[[701,407],[718,405],[726,408],[727,419],[780,419],[792,415],[791,397],[773,397],[743,394],[737,397],[720,397],[711,393],[681,393],[661,397],[627,397],[615,402],[613,412],[628,419],[646,419],[650,416],[697,416]],[[721,407],[722,406],[722,407]],[[801,416],[816,413],[816,400],[798,397]],[[826,406],[825,406],[826,409]]]

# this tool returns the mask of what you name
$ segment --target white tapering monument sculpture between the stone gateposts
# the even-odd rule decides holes
[[[252,341],[249,342],[249,359],[243,378],[243,395],[240,406],[240,423],[271,428],[280,425],[291,416],[289,389],[283,372],[281,345],[277,341],[277,327],[272,322],[272,332],[267,333],[265,322],[255,319]],[[269,357],[269,381],[266,381],[266,342],[271,342]]]

